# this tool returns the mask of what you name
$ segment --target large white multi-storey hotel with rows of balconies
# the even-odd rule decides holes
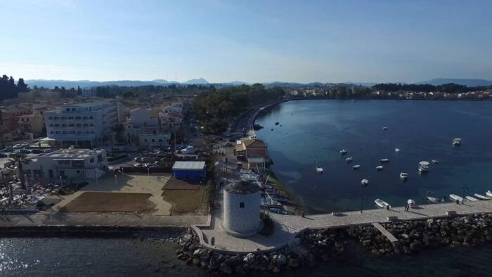
[[[118,124],[118,102],[114,100],[78,103],[45,112],[46,133],[61,146],[86,148],[108,140]]]

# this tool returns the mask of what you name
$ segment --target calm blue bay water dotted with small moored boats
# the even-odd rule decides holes
[[[273,170],[311,212],[358,210],[361,196],[369,209],[377,198],[403,206],[409,198],[425,203],[427,191],[442,198],[462,195],[463,187],[466,195],[492,189],[491,102],[289,101],[256,123],[264,126],[256,134],[268,143]],[[452,146],[456,137],[462,146]],[[349,153],[340,155],[342,148]],[[354,161],[346,163],[349,156]],[[390,162],[377,172],[382,158]],[[418,163],[432,159],[439,163],[419,174]],[[318,166],[323,174],[316,174]],[[365,188],[362,179],[369,181]]]

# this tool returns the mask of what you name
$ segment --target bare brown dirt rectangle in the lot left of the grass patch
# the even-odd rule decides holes
[[[84,192],[60,208],[60,212],[152,212],[150,193]]]

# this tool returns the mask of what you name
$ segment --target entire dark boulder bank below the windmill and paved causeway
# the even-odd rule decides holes
[[[174,241],[181,246],[176,251],[178,259],[186,261],[186,264],[228,274],[251,271],[278,273],[300,266],[313,266],[318,261],[342,260],[349,240],[357,240],[373,255],[410,255],[426,247],[468,247],[492,242],[492,214],[395,221],[382,226],[399,241],[391,243],[373,226],[306,230],[296,242],[308,250],[304,255],[297,254],[290,247],[270,253],[228,255],[202,247],[191,228]]]

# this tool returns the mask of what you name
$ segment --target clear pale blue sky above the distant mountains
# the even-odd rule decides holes
[[[0,75],[492,79],[492,1],[0,0]]]

